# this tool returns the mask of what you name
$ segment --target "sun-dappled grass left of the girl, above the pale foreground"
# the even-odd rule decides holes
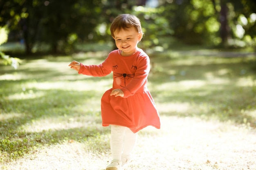
[[[100,97],[111,87],[111,79],[95,82],[68,64],[58,62],[56,67],[57,62],[40,59],[28,61],[19,71],[3,70],[1,163],[27,157],[40,148],[66,141],[89,142],[100,133],[109,133],[101,126]]]

